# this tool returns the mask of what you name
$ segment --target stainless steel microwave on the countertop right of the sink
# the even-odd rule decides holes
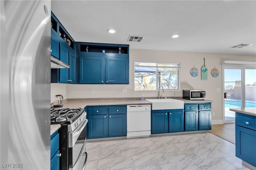
[[[183,90],[183,98],[187,100],[206,100],[205,90]]]

